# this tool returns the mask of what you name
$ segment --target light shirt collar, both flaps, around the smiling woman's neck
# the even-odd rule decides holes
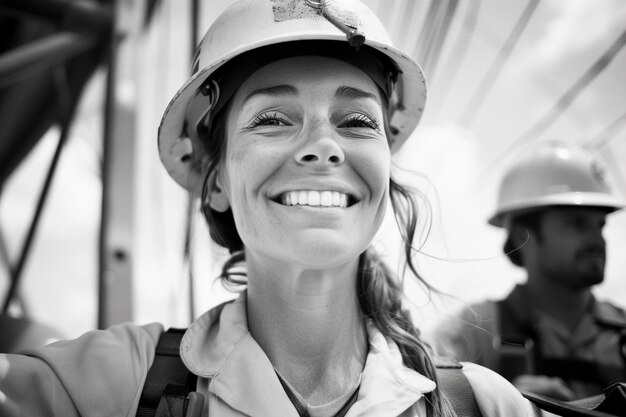
[[[367,323],[369,353],[356,403],[347,417],[398,416],[435,383],[402,363],[398,346]],[[180,354],[209,391],[248,415],[297,417],[265,352],[248,329],[246,293],[200,316],[183,336]],[[245,383],[243,382],[245,381]]]

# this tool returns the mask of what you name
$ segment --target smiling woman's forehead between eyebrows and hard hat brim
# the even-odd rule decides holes
[[[319,93],[326,88],[353,87],[379,98],[374,81],[362,70],[347,62],[322,56],[300,56],[274,61],[255,71],[239,88],[235,100],[250,92],[274,85],[291,85],[298,92]]]

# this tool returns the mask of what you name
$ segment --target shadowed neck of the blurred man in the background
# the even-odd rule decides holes
[[[574,289],[556,280],[529,274],[526,288],[546,314],[574,331],[592,299],[591,289]]]

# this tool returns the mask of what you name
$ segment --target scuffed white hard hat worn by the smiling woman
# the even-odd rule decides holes
[[[400,148],[422,115],[426,82],[419,65],[394,48],[369,8],[358,0],[243,0],[211,25],[198,48],[193,75],[163,114],[158,146],[168,173],[198,192],[206,170],[198,127],[210,125],[238,85],[260,66],[290,55],[327,53],[353,62],[388,94],[389,146],[392,152]]]

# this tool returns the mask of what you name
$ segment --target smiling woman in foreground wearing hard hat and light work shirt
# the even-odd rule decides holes
[[[232,253],[222,277],[247,283],[183,337],[203,414],[453,416],[370,248],[391,199],[411,252],[415,204],[390,155],[422,112],[417,64],[356,1],[247,0],[211,27],[194,72],[165,111],[161,158]],[[134,415],[161,331],[3,356],[2,415]],[[533,415],[498,375],[464,373],[483,415]]]

